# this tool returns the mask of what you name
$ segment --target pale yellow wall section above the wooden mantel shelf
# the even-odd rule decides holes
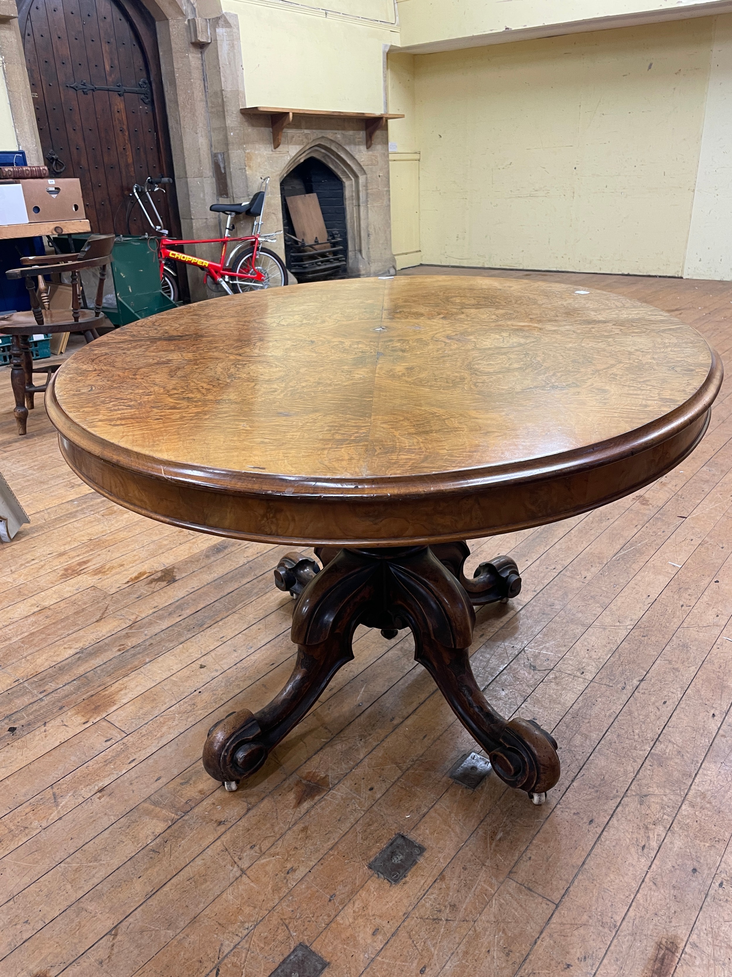
[[[399,39],[392,0],[224,7],[239,17],[247,106],[384,111],[385,46]]]

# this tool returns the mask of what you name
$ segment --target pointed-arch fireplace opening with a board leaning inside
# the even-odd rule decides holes
[[[317,232],[318,208],[312,200],[288,203],[288,197],[314,193],[326,240]],[[341,178],[320,159],[308,156],[280,181],[285,264],[298,281],[347,276],[346,200]],[[296,228],[296,224],[298,227]],[[322,225],[319,225],[322,228]],[[298,230],[300,234],[298,234]],[[308,239],[311,238],[311,239]]]

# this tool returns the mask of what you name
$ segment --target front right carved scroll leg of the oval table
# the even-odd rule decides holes
[[[542,803],[543,795],[559,780],[556,742],[538,723],[525,719],[507,722],[486,701],[468,658],[472,636],[468,595],[441,563],[431,555],[429,560],[431,564],[423,560],[414,566],[417,573],[405,574],[406,566],[392,568],[400,591],[392,599],[400,614],[413,622],[415,658],[486,750],[498,776],[508,786],[525,790],[535,803]]]

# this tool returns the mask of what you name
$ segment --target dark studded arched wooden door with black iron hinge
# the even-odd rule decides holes
[[[95,233],[145,234],[128,194],[173,176],[155,22],[137,0],[24,0],[19,20],[43,155],[78,177]],[[180,234],[175,189],[156,193]]]

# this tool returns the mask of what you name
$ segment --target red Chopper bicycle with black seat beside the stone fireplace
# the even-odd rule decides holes
[[[224,237],[206,237],[191,240],[167,237],[168,231],[152,199],[152,193],[165,192],[163,184],[172,184],[170,177],[147,177],[143,184],[135,184],[130,193],[131,204],[140,204],[145,220],[156,234],[160,258],[160,288],[173,302],[178,301],[178,273],[175,262],[193,265],[203,271],[203,280],[216,293],[234,295],[237,292],[258,291],[261,288],[274,288],[287,284],[287,269],[284,262],[261,241],[273,242],[276,234],[261,234],[262,214],[269,177],[262,178],[262,184],[251,200],[244,203],[212,203],[209,208],[215,214],[226,214]],[[128,209],[129,219],[132,206]],[[234,218],[240,214],[254,218],[252,234],[234,237]],[[152,215],[152,216],[150,216]],[[229,245],[238,246],[228,251]],[[206,261],[194,255],[176,250],[185,244],[221,244],[222,253],[218,262]],[[228,254],[226,253],[228,251]]]

